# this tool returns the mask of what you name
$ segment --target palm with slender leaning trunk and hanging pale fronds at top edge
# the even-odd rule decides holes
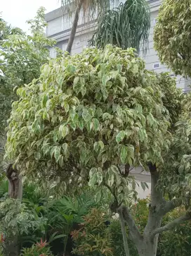
[[[72,30],[70,38],[67,43],[67,49],[71,53],[72,44],[77,31],[77,24],[79,21],[79,12],[82,10],[84,21],[86,18],[92,20],[95,18],[96,13],[99,11],[105,11],[110,8],[110,2],[114,0],[61,0],[62,6],[71,6],[75,10],[74,22],[72,24]],[[90,18],[91,17],[91,18]]]

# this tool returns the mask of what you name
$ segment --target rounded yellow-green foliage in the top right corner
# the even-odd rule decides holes
[[[176,75],[191,76],[190,1],[164,0],[154,29],[159,59]]]

